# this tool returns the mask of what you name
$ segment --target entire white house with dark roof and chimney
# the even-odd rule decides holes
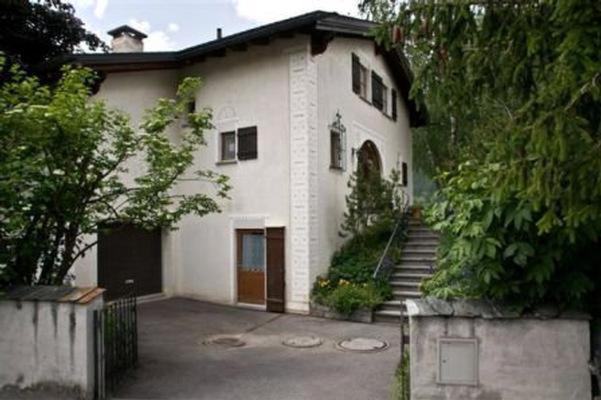
[[[307,312],[315,277],[342,243],[347,182],[360,159],[383,174],[404,169],[412,193],[410,127],[423,118],[408,99],[406,60],[367,36],[371,27],[316,11],[158,53],[120,27],[110,32],[112,53],[77,56],[105,74],[97,96],[133,122],[173,97],[183,77],[202,77],[195,103],[213,109],[215,130],[195,163],[233,186],[222,213],[185,217],[175,232],[131,227],[101,237],[76,265],[77,283],[117,295],[133,281],[140,295]]]

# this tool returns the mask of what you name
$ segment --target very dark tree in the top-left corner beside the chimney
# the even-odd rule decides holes
[[[61,0],[0,1],[0,52],[8,58],[0,69],[0,83],[10,78],[13,64],[44,82],[54,82],[60,78],[58,59],[81,45],[90,50],[105,48],[85,29],[71,4]]]

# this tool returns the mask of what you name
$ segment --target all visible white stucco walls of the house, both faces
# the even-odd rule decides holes
[[[394,87],[384,60],[368,40],[335,38],[325,53],[310,54],[309,37],[276,39],[268,46],[227,51],[182,70],[108,74],[98,98],[130,114],[137,124],[159,97],[172,97],[177,81],[201,77],[196,106],[213,110],[215,129],[195,157],[195,169],[230,177],[222,213],[184,217],[163,234],[163,285],[167,294],[236,302],[235,230],[286,228],[286,307],[307,312],[315,276],[324,272],[341,240],[344,195],[356,167],[352,148],[369,139],[378,147],[386,174],[405,161],[411,168],[407,112],[398,98],[394,122],[351,90],[351,52],[359,54],[386,85]],[[347,128],[344,173],[329,169],[328,125],[337,111]],[[219,163],[219,132],[257,126],[258,158]],[[177,127],[171,134],[178,135]],[[134,162],[131,174],[139,172]],[[409,175],[408,192],[412,182]],[[206,182],[182,181],[177,193],[214,193]],[[96,284],[96,251],[75,268],[78,284]]]

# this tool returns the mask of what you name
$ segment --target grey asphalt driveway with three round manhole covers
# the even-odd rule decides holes
[[[116,399],[380,400],[389,399],[399,361],[391,325],[332,321],[168,299],[139,306],[139,367]],[[210,342],[235,335],[245,345]],[[313,335],[323,344],[282,341]],[[341,351],[348,337],[384,340],[375,353]]]

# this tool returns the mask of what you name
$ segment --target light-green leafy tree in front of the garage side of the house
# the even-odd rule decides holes
[[[49,87],[13,68],[0,87],[0,284],[62,284],[105,224],[173,229],[183,215],[218,212],[215,198],[227,196],[227,177],[194,169],[211,127],[210,110],[186,111],[199,79],[158,100],[138,129],[90,98],[95,79],[64,69]],[[188,128],[170,139],[182,118]],[[213,194],[179,194],[183,177]]]

